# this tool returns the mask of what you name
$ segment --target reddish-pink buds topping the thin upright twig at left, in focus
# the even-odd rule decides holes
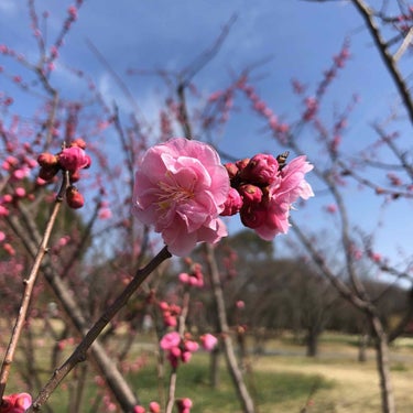
[[[70,186],[66,189],[66,202],[74,209],[81,208],[85,204],[83,195],[73,185],[79,181],[80,170],[90,166],[90,157],[86,154],[85,148],[85,141],[76,139],[57,154],[45,152],[37,157],[41,166],[39,177],[43,181],[52,181],[61,170],[67,171]]]

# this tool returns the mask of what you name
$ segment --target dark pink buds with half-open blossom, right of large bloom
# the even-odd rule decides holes
[[[272,156],[259,153],[251,159],[226,164],[230,191],[221,215],[240,214],[242,224],[271,241],[286,233],[292,204],[314,196],[304,175],[313,169],[305,156],[286,164],[289,152]]]

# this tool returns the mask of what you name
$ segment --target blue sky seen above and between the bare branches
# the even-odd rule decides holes
[[[40,14],[44,10],[50,12],[47,33],[50,40],[54,39],[70,2],[36,0],[35,4]],[[151,119],[164,86],[149,77],[128,77],[127,69],[180,70],[210,46],[235,14],[237,21],[219,54],[195,78],[202,91],[225,87],[231,70],[238,73],[271,57],[256,72],[257,90],[278,115],[291,119],[300,107],[291,90],[291,78],[300,79],[314,90],[333,55],[349,37],[351,58],[332,87],[328,107],[337,105],[343,109],[354,93],[359,94],[361,100],[351,115],[346,135],[347,149],[355,150],[374,138],[368,123],[383,118],[388,108],[398,100],[372,41],[362,29],[360,17],[346,1],[322,4],[300,0],[86,0],[61,51],[53,81],[67,94],[79,93],[83,85],[70,78],[64,66],[80,68],[94,78],[108,100],[116,100],[129,110],[124,96],[88,47],[87,41],[90,41],[111,68],[124,78],[140,110]],[[36,56],[35,42],[29,24],[25,1],[0,0],[0,44],[10,45],[33,59]],[[10,72],[19,70],[13,62],[1,56],[0,65]],[[28,105],[28,101],[18,99],[14,110],[24,112]],[[333,109],[328,110],[324,115],[327,121],[333,119]],[[282,152],[283,148],[263,134],[261,127],[262,122],[257,118],[240,116],[228,124],[219,142],[224,150],[238,157],[262,150]],[[314,137],[306,139],[306,148],[311,151]],[[323,154],[312,153],[312,156],[317,160]],[[356,222],[366,224],[368,229],[374,228],[382,216],[376,199],[354,187],[348,192],[348,199],[350,206],[354,199],[350,209]],[[294,214],[297,219],[307,221],[323,219],[314,211],[319,211],[327,203],[328,199],[318,197],[311,200],[303,211]],[[400,240],[403,244],[411,238],[413,229],[412,220],[406,222],[403,219],[411,209],[405,209],[404,205],[394,208],[385,214],[392,219],[396,233],[394,229],[381,229],[378,244],[378,249],[388,249],[391,253],[395,253]]]

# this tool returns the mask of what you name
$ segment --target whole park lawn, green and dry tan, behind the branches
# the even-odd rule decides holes
[[[120,338],[121,339],[121,338]],[[133,357],[145,354],[143,367],[127,373],[141,404],[162,401],[167,393],[169,368],[164,380],[157,380],[156,357],[149,337],[139,339],[133,347]],[[320,340],[319,357],[305,357],[305,348],[285,335],[267,343],[270,355],[249,358],[246,382],[259,413],[300,413],[307,405],[306,413],[377,413],[380,412],[374,352],[368,350],[368,361],[357,361],[357,337],[325,334]],[[413,339],[403,338],[391,348],[391,374],[396,399],[398,413],[413,411]],[[44,345],[44,344],[43,344]],[[119,346],[119,343],[113,343]],[[39,346],[37,358],[44,360],[42,381],[50,377],[47,346]],[[68,351],[69,349],[67,349]],[[53,412],[67,413],[67,405],[84,363],[69,374],[57,392],[52,394],[50,405]],[[227,372],[224,356],[220,359],[219,384],[213,389],[209,381],[209,355],[194,354],[192,360],[181,365],[177,374],[176,398],[191,398],[192,413],[241,412],[235,388]],[[20,390],[19,383],[10,383],[8,392]],[[89,365],[85,404],[80,412],[96,412],[94,402],[101,402],[101,389],[96,387],[96,372]],[[162,396],[163,394],[163,396]],[[47,410],[45,410],[47,411]],[[101,412],[101,410],[100,410]]]

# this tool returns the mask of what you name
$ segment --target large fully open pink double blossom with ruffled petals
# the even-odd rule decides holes
[[[218,153],[184,138],[146,151],[135,173],[133,214],[153,225],[171,253],[187,256],[197,242],[227,236],[219,219],[229,177]]]

